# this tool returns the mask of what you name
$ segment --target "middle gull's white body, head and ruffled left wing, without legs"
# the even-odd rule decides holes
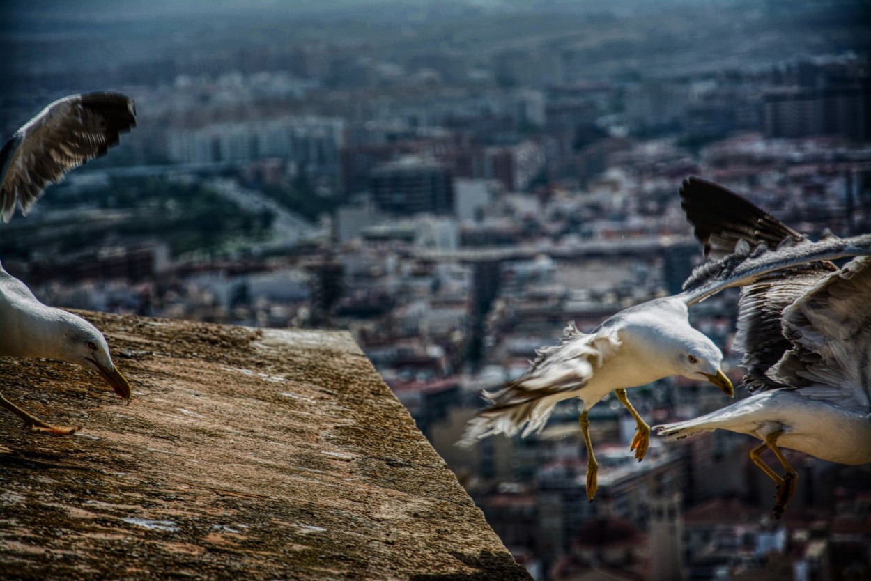
[[[485,395],[492,405],[469,423],[463,443],[492,434],[514,436],[521,429],[528,436],[544,427],[557,402],[572,397],[589,411],[614,389],[669,375],[710,381],[709,375],[722,375],[722,359],[719,348],[690,326],[687,307],[677,297],[627,308],[589,334],[570,323],[559,344],[538,350],[523,376]],[[721,388],[728,392],[731,384]]]

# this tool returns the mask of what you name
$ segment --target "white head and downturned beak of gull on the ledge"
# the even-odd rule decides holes
[[[81,317],[58,311],[63,315],[63,332],[57,358],[68,363],[75,363],[84,368],[91,368],[103,376],[103,379],[115,390],[115,393],[130,400],[132,391],[130,383],[124,375],[115,368],[109,354],[109,345],[105,337],[96,327]]]

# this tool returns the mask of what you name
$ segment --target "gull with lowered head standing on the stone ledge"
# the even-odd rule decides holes
[[[0,213],[8,222],[16,206],[27,214],[44,187],[66,172],[99,157],[136,126],[130,98],[93,92],[58,99],[30,119],[0,151]],[[41,357],[95,369],[115,393],[130,400],[130,384],[111,361],[103,334],[88,321],[33,296],[23,282],[0,266],[0,355]],[[51,434],[77,428],[52,426],[0,394],[0,406],[24,420],[25,427]]]

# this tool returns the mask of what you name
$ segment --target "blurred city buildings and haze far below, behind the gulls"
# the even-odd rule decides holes
[[[800,480],[775,521],[756,441],[654,437],[637,463],[614,398],[591,412],[593,503],[576,403],[525,440],[454,445],[481,390],[568,321],[679,291],[702,260],[682,179],[802,233],[871,232],[867,2],[0,10],[4,135],[78,91],[138,111],[121,145],[0,228],[3,266],[41,300],[350,330],[536,579],[871,579],[868,465],[787,454]],[[737,385],[736,298],[691,315]],[[630,398],[651,424],[727,403],[683,378]]]

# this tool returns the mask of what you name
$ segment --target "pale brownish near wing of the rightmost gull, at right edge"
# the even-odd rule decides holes
[[[784,310],[782,327],[792,348],[768,371],[774,382],[871,411],[871,258],[817,282]]]

